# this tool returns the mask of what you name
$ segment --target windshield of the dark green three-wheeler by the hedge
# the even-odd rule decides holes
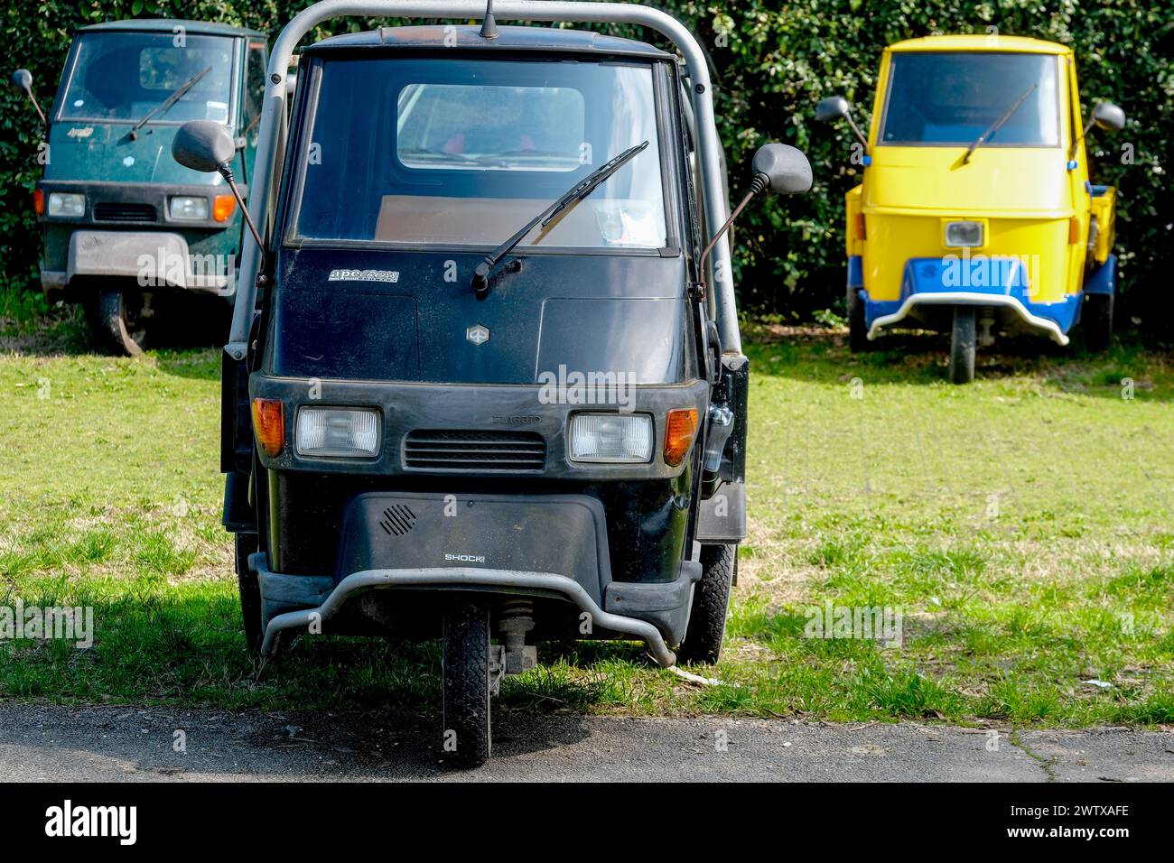
[[[208,74],[149,123],[230,121],[232,39],[85,33],[79,38],[58,119],[136,123],[204,69]]]

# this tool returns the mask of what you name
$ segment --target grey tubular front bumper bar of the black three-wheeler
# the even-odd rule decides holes
[[[275,577],[276,579],[281,578],[281,575],[272,573],[268,568],[264,552],[249,557],[249,568],[257,573],[263,594],[266,582],[272,582]],[[700,567],[697,567],[696,574],[700,575]],[[308,577],[290,578],[306,579],[306,586],[323,585],[321,579],[311,581]],[[693,573],[682,575],[682,579],[688,579],[687,586],[690,588],[688,595],[691,596],[691,584],[695,580]],[[613,585],[620,586],[618,582],[613,582]],[[518,593],[522,595],[559,596],[569,600],[580,611],[588,613],[592,616],[593,626],[641,639],[648,646],[648,653],[657,665],[668,668],[676,662],[676,655],[669,649],[664,638],[654,625],[645,620],[603,611],[592,599],[591,594],[583,589],[582,585],[566,575],[548,572],[522,572],[518,569],[483,569],[478,567],[364,569],[351,573],[333,586],[332,589],[329,589],[329,593],[324,593],[322,605],[313,608],[285,612],[272,618],[265,627],[265,636],[261,646],[261,652],[263,655],[271,655],[278,633],[285,629],[308,627],[315,621],[321,623],[328,620],[357,593],[397,587],[413,589],[493,591],[497,593]],[[623,587],[636,587],[639,589],[641,586],[623,585]]]

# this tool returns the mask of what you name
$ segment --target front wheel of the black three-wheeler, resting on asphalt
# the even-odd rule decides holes
[[[444,614],[444,734],[446,763],[480,767],[490,759],[490,607],[478,596],[453,599]]]

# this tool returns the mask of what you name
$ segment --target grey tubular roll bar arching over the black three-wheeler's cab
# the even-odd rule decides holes
[[[576,2],[566,0],[495,0],[493,12],[499,19],[514,21],[567,21],[592,23],[633,23],[649,27],[668,38],[684,56],[691,85],[693,113],[696,117],[697,157],[706,197],[706,222],[710,230],[726,222],[724,183],[721,176],[721,141],[714,127],[713,87],[706,56],[693,34],[672,15],[648,6],[625,2]],[[311,29],[331,18],[457,18],[480,19],[485,0],[322,0],[294,16],[274,43],[265,76],[265,99],[261,113],[257,155],[249,177],[249,213],[257,224],[268,224],[272,209],[276,163],[285,146],[285,77],[294,48]],[[264,230],[262,231],[264,234]],[[734,277],[729,242],[722,237],[711,252],[714,265],[714,311],[727,353],[741,353],[734,303]],[[252,310],[257,299],[257,272],[261,250],[245,243],[241,256],[241,276],[232,308],[232,329],[225,350],[243,357]]]

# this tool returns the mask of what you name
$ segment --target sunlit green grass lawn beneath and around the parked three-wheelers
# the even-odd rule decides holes
[[[852,356],[830,331],[747,335],[751,532],[723,661],[701,669],[722,683],[691,686],[635,645],[546,645],[507,679],[507,709],[1174,723],[1168,355],[1030,342],[980,351],[959,387],[932,338]],[[0,695],[437,706],[436,645],[247,656],[215,350],[90,355],[74,319],[0,343],[0,606],[93,606],[96,628],[87,649],[0,641]],[[807,638],[828,602],[899,611],[900,645]]]

